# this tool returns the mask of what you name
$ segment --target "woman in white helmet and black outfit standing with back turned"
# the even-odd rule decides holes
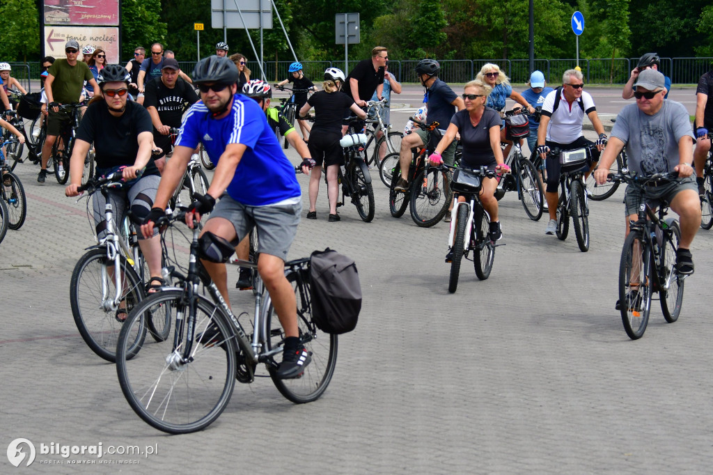
[[[339,221],[337,214],[337,170],[344,163],[342,157],[342,119],[347,109],[364,119],[366,112],[362,111],[354,100],[339,89],[344,84],[344,73],[337,68],[324,71],[324,91],[318,91],[307,103],[299,109],[299,116],[304,117],[309,109],[314,107],[314,126],[309,136],[309,153],[317,162],[309,175],[309,213],[308,220],[317,219],[317,194],[319,193],[319,178],[322,178],[322,163],[327,168],[327,196],[329,197],[329,220]]]

